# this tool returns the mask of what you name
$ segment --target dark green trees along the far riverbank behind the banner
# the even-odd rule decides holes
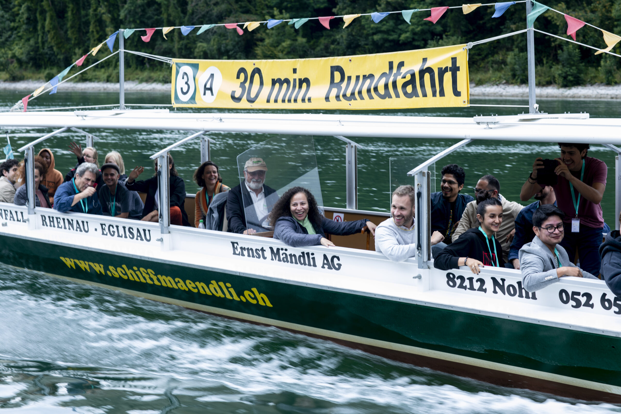
[[[561,12],[621,34],[621,0],[545,2]],[[294,17],[332,16],[373,11],[400,11],[436,6],[461,6],[455,0],[0,0],[0,79],[49,80],[119,28],[165,27],[222,22],[245,22]],[[412,16],[409,25],[401,14],[391,14],[378,24],[368,16],[342,29],[332,20],[326,30],[311,20],[300,29],[281,24],[261,26],[239,36],[234,30],[215,27],[201,35],[197,30],[184,37],[173,30],[165,40],[161,31],[151,42],[140,32],[125,40],[128,50],[155,55],[199,59],[313,58],[395,52],[473,42],[525,28],[525,6],[518,3],[499,18],[491,19],[493,7],[479,7],[469,14],[460,9],[446,12],[437,24],[422,20],[428,12]],[[567,37],[561,14],[546,12],[535,28]],[[143,34],[143,32],[142,32]],[[604,47],[599,30],[584,27],[577,40]],[[104,48],[105,49],[105,45]],[[93,63],[107,55],[103,50],[89,56]],[[619,58],[597,55],[591,49],[535,34],[537,83],[574,86],[585,83],[613,84],[621,81]],[[503,38],[470,50],[469,71],[475,83],[525,83],[526,35]],[[619,53],[617,45],[612,52]],[[126,78],[139,81],[170,81],[170,67],[136,55],[126,55]],[[80,80],[118,81],[114,58],[80,75]],[[44,79],[45,78],[45,79]]]

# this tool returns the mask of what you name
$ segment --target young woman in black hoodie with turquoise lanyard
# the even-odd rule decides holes
[[[433,259],[434,268],[448,270],[468,266],[474,274],[479,274],[479,266],[504,267],[502,246],[494,237],[502,223],[501,201],[497,198],[484,200],[476,213],[481,224],[479,228],[469,229],[440,251]]]

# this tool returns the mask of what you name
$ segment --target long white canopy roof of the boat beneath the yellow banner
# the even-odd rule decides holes
[[[588,114],[420,117],[348,114],[176,113],[168,110],[5,112],[1,127],[130,128],[378,138],[616,144],[621,119]]]

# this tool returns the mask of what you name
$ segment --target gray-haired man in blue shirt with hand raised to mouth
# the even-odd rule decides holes
[[[98,171],[93,163],[79,164],[75,176],[58,186],[54,195],[54,210],[101,215],[101,204],[93,186]]]

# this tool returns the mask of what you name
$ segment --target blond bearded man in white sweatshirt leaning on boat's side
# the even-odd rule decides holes
[[[400,186],[392,193],[391,218],[379,223],[375,229],[375,251],[395,262],[416,256],[416,232],[414,231],[414,200],[416,191],[412,186]],[[444,240],[440,232],[433,232],[431,244]]]

